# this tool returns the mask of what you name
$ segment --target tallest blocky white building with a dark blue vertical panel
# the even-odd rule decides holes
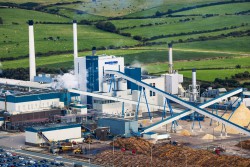
[[[92,56],[76,57],[74,59],[78,89],[88,92],[107,92],[109,83],[106,80],[104,71],[117,70],[124,72],[124,58],[107,55],[95,56],[94,53],[95,51],[93,51]],[[125,82],[123,83],[126,84]],[[122,86],[123,84],[120,84],[120,87]],[[87,103],[86,98],[83,101],[85,104]],[[88,100],[88,103],[91,103],[91,99]]]

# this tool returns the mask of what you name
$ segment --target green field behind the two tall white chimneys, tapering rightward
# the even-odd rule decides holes
[[[34,26],[34,29],[37,53],[73,50],[72,25],[38,24]],[[0,31],[0,57],[10,57],[10,55],[18,57],[28,54],[28,26],[3,25],[0,27]],[[49,37],[56,40],[48,40]],[[60,39],[57,40],[57,37]],[[80,50],[91,49],[93,46],[130,46],[137,43],[131,38],[101,31],[93,26],[78,25],[78,48]]]

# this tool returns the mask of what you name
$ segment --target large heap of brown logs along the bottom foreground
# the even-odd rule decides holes
[[[136,141],[136,144],[131,144],[131,141]],[[140,142],[142,144],[140,144]],[[105,151],[96,156],[95,163],[104,166],[153,166],[153,167],[165,167],[165,166],[201,166],[201,167],[249,167],[250,159],[241,158],[238,156],[218,156],[207,150],[195,150],[185,146],[173,146],[170,144],[157,144],[152,146],[152,163],[151,163],[151,148],[145,145],[147,141],[143,139],[120,139],[119,144],[125,147],[133,148],[138,147],[145,150],[144,153],[136,153],[133,155],[131,151],[122,152],[116,150],[115,155],[112,151]]]

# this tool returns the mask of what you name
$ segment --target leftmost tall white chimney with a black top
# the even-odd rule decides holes
[[[34,81],[34,77],[36,76],[36,58],[35,58],[33,20],[29,20],[29,65],[30,65],[30,81]]]

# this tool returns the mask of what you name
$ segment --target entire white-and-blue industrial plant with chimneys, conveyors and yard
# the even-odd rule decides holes
[[[36,74],[36,27],[32,20],[28,24],[30,80],[0,78],[0,126],[2,131],[24,132],[23,147],[49,154],[73,152],[79,159],[102,165],[91,157],[94,150],[102,154],[107,149],[108,144],[100,142],[113,141],[110,154],[128,150],[116,139],[167,142],[176,147],[187,142],[194,146],[216,143],[216,139],[249,139],[250,92],[212,87],[201,92],[196,69],[190,70],[192,84],[185,88],[184,76],[174,68],[171,43],[166,53],[168,73],[146,75],[140,67],[125,66],[124,57],[99,54],[95,47],[92,55],[79,57],[74,20],[74,72],[68,74],[73,80],[62,81],[56,75]],[[65,86],[67,82],[73,84]],[[137,147],[129,149],[139,152]],[[237,154],[227,151],[225,155]]]

